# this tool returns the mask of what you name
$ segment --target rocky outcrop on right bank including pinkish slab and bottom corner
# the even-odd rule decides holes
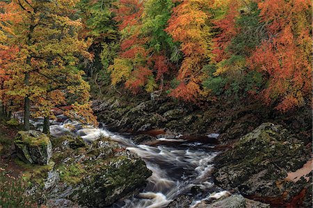
[[[216,184],[273,207],[312,207],[310,150],[281,125],[264,123],[216,157]],[[291,173],[296,173],[291,177]]]

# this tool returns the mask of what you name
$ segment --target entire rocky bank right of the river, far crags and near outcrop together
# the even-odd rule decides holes
[[[113,96],[93,102],[93,109],[109,128],[136,132],[135,143],[217,134],[218,142],[228,149],[216,157],[213,174],[218,186],[243,195],[246,207],[251,207],[251,199],[271,207],[312,207],[312,171],[301,170],[312,161],[310,109],[283,114],[253,102],[200,109],[168,98],[126,103]],[[293,173],[296,179],[290,179]],[[195,195],[182,195],[168,207],[188,207]],[[198,207],[214,202],[204,201]]]

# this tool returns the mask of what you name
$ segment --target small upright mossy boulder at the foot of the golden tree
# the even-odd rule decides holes
[[[52,155],[49,137],[40,131],[19,131],[15,137],[17,156],[26,163],[47,165]]]

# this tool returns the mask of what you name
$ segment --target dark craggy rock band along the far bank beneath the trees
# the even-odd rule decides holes
[[[93,111],[100,122],[112,131],[132,134],[165,134],[174,137],[207,136],[219,134],[221,143],[233,143],[241,136],[259,127],[263,122],[273,122],[289,129],[305,143],[312,141],[312,110],[303,107],[298,111],[279,113],[255,100],[241,102],[211,102],[207,106],[186,104],[169,97],[159,99],[129,98],[108,94],[93,101]],[[158,129],[157,134],[155,130]],[[152,130],[152,131],[151,131]],[[164,135],[163,135],[164,136]],[[152,138],[147,137],[151,141]],[[145,139],[141,138],[141,143]]]

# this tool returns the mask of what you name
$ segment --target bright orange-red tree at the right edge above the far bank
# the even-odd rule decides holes
[[[312,99],[312,6],[307,0],[259,2],[268,39],[248,66],[268,79],[262,91],[266,104],[288,111]]]

